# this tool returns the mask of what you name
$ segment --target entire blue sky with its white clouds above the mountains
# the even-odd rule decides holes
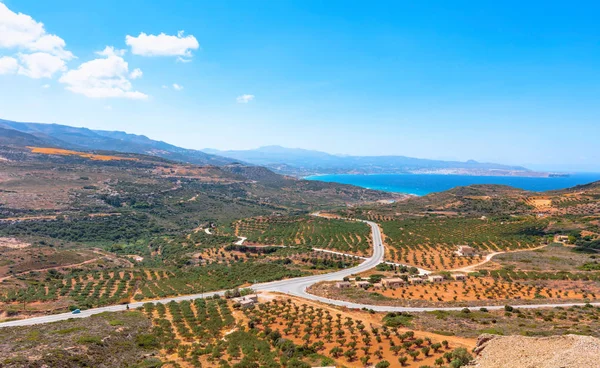
[[[198,149],[278,144],[600,171],[597,3],[2,7],[0,118]]]

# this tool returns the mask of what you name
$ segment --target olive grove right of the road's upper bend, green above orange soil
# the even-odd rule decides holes
[[[544,241],[547,220],[533,218],[411,218],[381,223],[389,260],[430,270],[448,270],[481,262],[491,252],[530,249]],[[461,257],[459,245],[475,255]]]

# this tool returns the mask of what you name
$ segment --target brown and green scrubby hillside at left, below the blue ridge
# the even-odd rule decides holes
[[[287,178],[261,167],[197,166],[110,151],[0,146],[0,166],[3,217],[134,210],[179,227],[390,197],[349,185]],[[194,219],[186,218],[192,213]]]

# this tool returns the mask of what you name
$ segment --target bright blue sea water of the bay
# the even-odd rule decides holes
[[[515,188],[543,192],[564,189],[600,180],[597,174],[573,174],[564,178],[526,178],[514,176],[468,176],[429,174],[377,174],[377,175],[317,175],[305,178],[326,182],[352,184],[386,192],[426,195],[433,192],[472,184],[502,184]]]

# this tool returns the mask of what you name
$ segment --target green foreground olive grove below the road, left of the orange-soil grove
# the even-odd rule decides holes
[[[333,362],[279,332],[256,328],[256,321],[248,321],[225,299],[147,303],[142,309],[152,320],[152,335],[166,366],[276,368]]]

